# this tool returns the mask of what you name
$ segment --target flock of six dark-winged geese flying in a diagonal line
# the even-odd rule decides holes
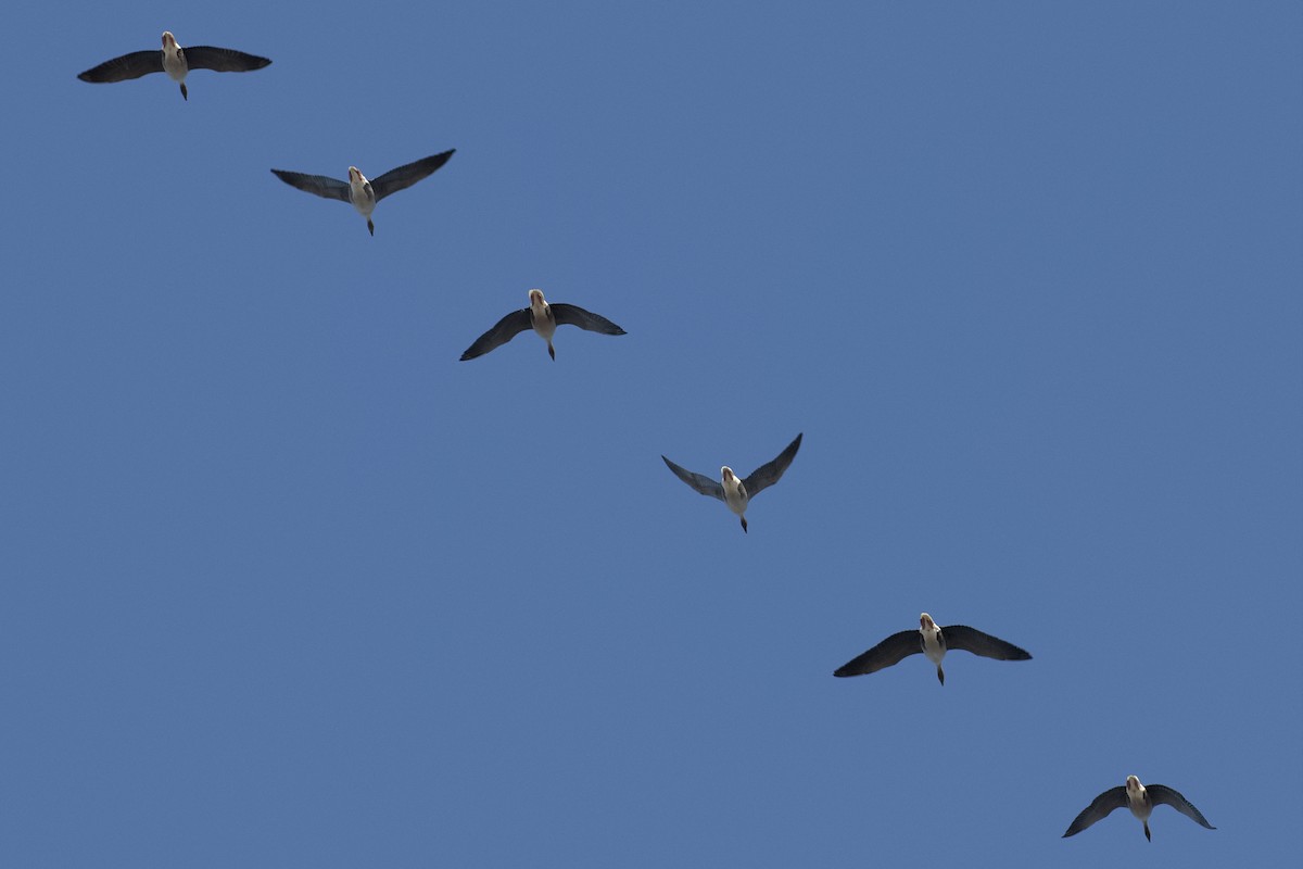
[[[169,31],[163,33],[163,48],[150,51],[134,51],[121,57],[106,60],[98,66],[93,66],[77,76],[85,82],[121,82],[132,78],[141,78],[149,73],[167,73],[172,81],[181,86],[181,98],[189,99],[189,90],[185,78],[192,69],[211,69],[219,73],[246,73],[262,69],[271,63],[267,57],[248,55],[232,48],[214,48],[211,46],[192,46],[181,48]],[[326,199],[339,199],[348,202],[358,214],[366,218],[366,228],[375,235],[375,224],[371,221],[371,212],[377,203],[391,193],[404,190],[417,181],[429,177],[442,168],[453,155],[453,150],[434,154],[431,156],[390,169],[378,178],[367,180],[362,172],[354,167],[348,167],[348,181],[331,178],[324,175],[305,175],[302,172],[289,172],[285,169],[272,169],[272,175],[285,184],[311,193]],[[529,291],[529,306],[515,310],[503,317],[461,354],[461,361],[473,360],[494,350],[525,330],[533,330],[547,343],[547,354],[555,360],[556,350],[552,348],[552,335],[558,326],[577,326],[589,332],[599,335],[624,335],[624,330],[599,314],[586,311],[577,305],[562,302],[549,304],[539,289]],[[732,468],[727,465],[719,469],[721,478],[698,474],[676,465],[665,456],[665,464],[684,483],[717,500],[722,500],[741,521],[741,530],[747,532],[747,507],[751,499],[765,489],[769,489],[782,478],[783,473],[796,457],[800,449],[801,435],[787,444],[778,456],[765,463],[744,478],[739,478]],[[919,629],[902,631],[873,646],[834,671],[834,676],[863,676],[877,672],[896,664],[909,655],[923,653],[928,661],[937,667],[937,680],[945,685],[946,674],[941,668],[941,661],[946,651],[962,649],[982,658],[995,661],[1029,661],[1031,654],[1011,642],[993,637],[989,633],[969,628],[962,624],[952,624],[946,628],[939,627],[926,612],[919,616]],[[1141,784],[1135,775],[1128,775],[1124,784],[1109,788],[1085,809],[1081,810],[1072,823],[1068,825],[1063,838],[1076,835],[1088,826],[1108,817],[1115,809],[1126,806],[1144,826],[1145,839],[1149,839],[1149,814],[1156,805],[1170,805],[1195,823],[1214,830],[1203,813],[1196,809],[1175,788],[1164,784]]]

